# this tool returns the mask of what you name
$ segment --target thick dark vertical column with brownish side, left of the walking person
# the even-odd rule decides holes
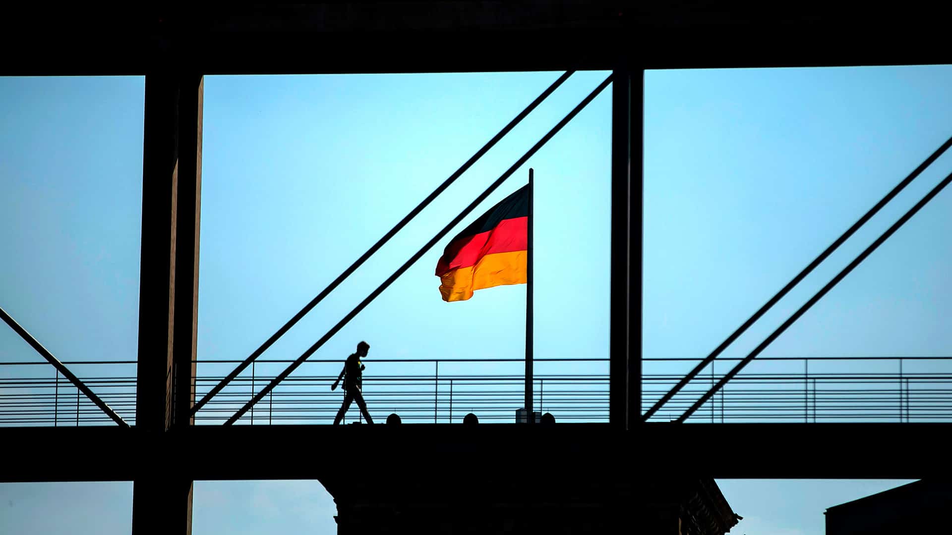
[[[192,482],[162,435],[195,395],[203,78],[146,76],[136,427],[152,435],[132,486],[132,533],[191,533]]]

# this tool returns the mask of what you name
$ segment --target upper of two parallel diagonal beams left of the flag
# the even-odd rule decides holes
[[[268,338],[268,340],[266,340],[265,343],[261,345],[261,347],[258,347],[257,349],[255,349],[254,352],[248,355],[247,359],[245,359],[240,365],[238,365],[238,367],[235,367],[230,373],[228,373],[228,375],[224,379],[222,379],[218,383],[218,385],[215,385],[213,388],[211,388],[211,390],[209,390],[208,393],[205,394],[205,396],[203,396],[202,399],[198,401],[198,403],[192,406],[191,415],[194,416],[195,413],[198,412],[199,409],[205,406],[205,404],[207,404],[208,401],[211,400],[211,398],[215,396],[215,394],[222,391],[222,388],[224,388],[225,386],[228,386],[228,383],[230,383],[235,377],[237,377],[238,374],[241,373],[245,368],[247,368],[252,362],[254,362],[255,359],[260,357],[261,354],[264,353],[265,350],[268,349],[268,347],[271,347],[275,342],[278,341],[279,338],[284,336],[284,334],[288,332],[288,329],[290,329],[291,327],[294,327],[294,325],[298,323],[298,321],[300,321],[301,318],[303,318],[307,314],[307,312],[309,312],[313,307],[316,307],[318,303],[323,301],[324,298],[327,297],[327,294],[333,291],[334,288],[340,286],[341,283],[343,283],[347,279],[347,277],[350,276],[351,273],[356,271],[357,268],[360,268],[365,262],[367,262],[367,259],[370,258],[373,255],[373,253],[377,252],[378,249],[384,247],[384,245],[387,244],[390,238],[392,238],[397,232],[399,232],[401,228],[406,227],[407,223],[409,223],[410,220],[416,217],[417,214],[423,211],[424,208],[429,206],[429,204],[433,202],[433,200],[436,199],[441,193],[443,193],[446,190],[446,188],[449,188],[450,185],[456,182],[456,179],[462,176],[463,173],[466,172],[467,169],[471,168],[473,164],[475,164],[480,158],[482,158],[483,155],[486,154],[486,152],[489,149],[492,149],[501,139],[506,137],[506,134],[509,133],[510,130],[516,128],[516,126],[519,125],[519,123],[521,123],[522,120],[525,119],[526,116],[529,113],[531,113],[533,109],[538,108],[538,106],[542,104],[542,102],[546,98],[548,98],[548,95],[552,94],[552,92],[555,91],[555,89],[558,89],[559,86],[565,83],[565,80],[567,80],[568,77],[571,76],[574,72],[575,72],[574,70],[567,70],[562,76],[559,76],[559,78],[555,82],[553,82],[552,85],[550,85],[547,89],[545,89],[545,91],[543,91],[542,94],[536,97],[535,100],[529,103],[526,109],[523,109],[518,115],[516,115],[511,121],[509,121],[509,123],[505,127],[503,127],[503,129],[499,130],[499,132],[496,135],[494,135],[492,139],[487,141],[486,145],[484,145],[482,149],[477,150],[475,154],[473,154],[468,160],[466,160],[466,163],[460,166],[460,168],[456,169],[456,172],[449,175],[449,178],[447,178],[446,181],[443,182],[443,184],[441,184],[438,188],[434,189],[433,192],[430,193],[426,197],[426,199],[424,199],[419,205],[417,205],[416,208],[413,208],[412,210],[410,210],[410,212],[407,213],[407,215],[402,220],[400,220],[400,223],[397,223],[393,228],[390,228],[390,230],[387,232],[387,234],[384,235],[384,237],[378,240],[377,243],[375,243],[372,247],[368,248],[367,252],[365,252],[363,255],[361,255],[360,258],[354,261],[354,263],[351,264],[349,268],[345,269],[343,273],[338,275],[337,278],[334,279],[333,282],[331,282],[329,285],[327,285],[326,288],[321,290],[321,293],[317,294],[317,296],[314,297],[314,299],[311,299],[310,303],[305,305],[304,308],[301,308],[301,310],[298,311],[297,314],[294,314],[294,317],[289,319],[288,323],[281,326],[281,328],[275,331],[275,333],[272,334],[271,337]]]

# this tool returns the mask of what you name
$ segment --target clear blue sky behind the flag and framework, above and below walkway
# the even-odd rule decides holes
[[[557,76],[208,77],[199,358],[248,355]],[[266,357],[300,354],[604,77],[574,76]],[[645,356],[700,357],[717,346],[952,135],[950,83],[948,67],[648,72]],[[10,229],[0,234],[0,306],[63,360],[135,357],[143,90],[139,77],[0,79],[0,225]],[[537,357],[606,354],[609,141],[606,89],[486,202],[536,169]],[[725,356],[756,346],[950,171],[943,157]],[[950,208],[946,191],[764,356],[952,354]],[[343,358],[361,339],[378,358],[519,358],[525,287],[443,303],[433,267],[447,239],[315,358]],[[0,362],[25,360],[39,357],[0,329]],[[330,375],[338,365],[305,369]],[[13,373],[26,371],[4,370]],[[719,481],[748,535],[822,533],[823,507],[901,483]],[[113,524],[85,532],[128,529],[130,484],[83,485],[0,485],[0,505],[109,496],[100,516]],[[200,482],[195,496],[196,533],[223,518],[255,532],[252,519],[268,514],[288,528],[333,530],[329,512],[295,517],[274,505],[332,511],[316,484]],[[0,518],[10,527],[30,517]]]

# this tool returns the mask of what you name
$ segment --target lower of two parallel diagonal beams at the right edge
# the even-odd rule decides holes
[[[754,350],[750,352],[750,354],[744,357],[744,360],[742,360],[740,363],[737,364],[737,366],[733,367],[730,371],[728,371],[724,375],[724,377],[722,377],[721,380],[717,382],[716,385],[711,386],[711,388],[707,390],[707,392],[703,396],[701,396],[701,399],[699,399],[697,402],[694,403],[694,405],[690,406],[690,408],[684,411],[684,414],[682,414],[681,417],[679,417],[676,420],[676,422],[678,422],[679,424],[684,423],[684,420],[687,420],[691,416],[691,414],[694,413],[694,411],[696,411],[698,408],[703,406],[704,403],[707,400],[709,400],[714,394],[716,394],[717,391],[720,390],[724,385],[726,385],[728,381],[733,379],[734,376],[737,375],[742,369],[744,369],[745,366],[750,364],[750,361],[757,358],[757,355],[761,354],[761,352],[767,346],[769,346],[774,340],[776,340],[778,336],[783,334],[783,331],[786,330],[787,327],[790,327],[791,325],[794,324],[794,322],[800,319],[800,317],[803,316],[803,313],[809,310],[810,307],[813,307],[814,305],[816,305],[818,301],[823,299],[823,296],[826,295],[826,293],[829,290],[833,289],[833,287],[839,284],[840,281],[842,281],[843,278],[850,273],[850,271],[852,271],[854,268],[862,264],[863,260],[865,260],[866,257],[872,254],[874,250],[882,246],[883,243],[886,240],[888,240],[889,237],[892,236],[896,232],[896,230],[899,230],[900,228],[902,228],[902,225],[904,225],[905,222],[909,221],[909,219],[911,219],[912,216],[916,215],[916,212],[918,212],[920,209],[922,209],[922,207],[927,205],[929,201],[931,201],[936,195],[938,195],[939,192],[942,191],[943,188],[948,186],[950,182],[952,182],[952,173],[946,176],[942,180],[942,182],[936,185],[935,188],[932,188],[932,190],[926,193],[925,196],[922,197],[922,199],[918,203],[916,203],[914,207],[909,208],[908,211],[902,214],[902,217],[899,218],[899,220],[896,221],[896,223],[894,223],[892,227],[888,228],[885,232],[883,232],[883,235],[877,238],[875,242],[870,244],[868,248],[863,249],[863,252],[861,252],[859,256],[857,256],[852,262],[850,262],[848,266],[843,268],[842,271],[837,273],[837,275],[833,277],[833,279],[830,280],[830,282],[826,283],[826,286],[824,286],[820,291],[818,291],[816,295],[811,297],[809,301],[804,303],[803,307],[800,307],[796,312],[793,313],[792,316],[787,318],[787,320],[783,322],[783,324],[780,327],[777,327],[776,330],[770,333],[770,336],[767,336],[766,339],[764,339],[764,342],[761,342],[760,346],[755,347]]]

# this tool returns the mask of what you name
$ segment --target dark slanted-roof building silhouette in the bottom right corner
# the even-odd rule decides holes
[[[947,533],[952,481],[921,480],[826,509],[826,535]]]

